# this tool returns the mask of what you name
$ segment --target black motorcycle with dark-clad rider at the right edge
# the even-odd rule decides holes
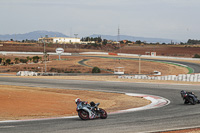
[[[193,92],[186,92],[186,91],[182,90],[181,97],[184,100],[184,104],[195,105],[195,104],[199,103],[197,96],[195,96]]]

